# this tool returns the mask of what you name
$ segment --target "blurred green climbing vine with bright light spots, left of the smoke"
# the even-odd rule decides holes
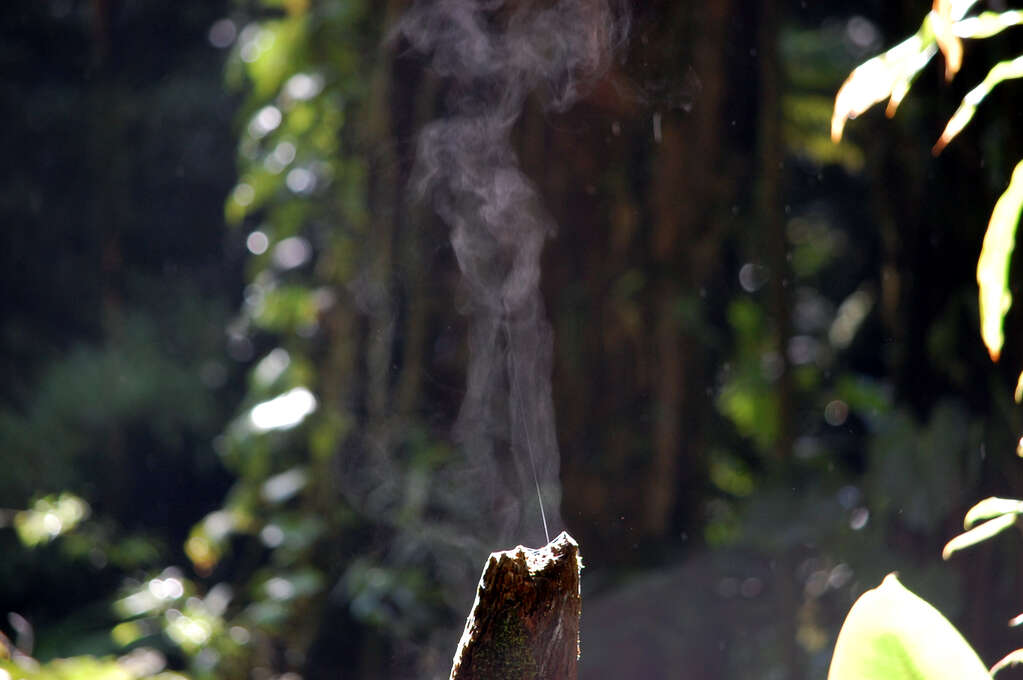
[[[217,440],[236,481],[184,543],[195,578],[174,576],[174,599],[152,590],[165,593],[166,576],[134,584],[115,629],[124,645],[170,641],[195,677],[316,674],[317,645],[358,669],[373,631],[421,640],[437,621],[422,517],[446,449],[412,414],[367,413],[379,398],[368,383],[392,369],[372,365],[386,352],[362,347],[375,339],[357,339],[385,315],[390,276],[369,266],[391,247],[375,241],[386,227],[370,214],[372,168],[397,165],[373,146],[388,115],[381,43],[397,5],[387,4],[262,0],[225,19],[237,27],[226,79],[242,99],[224,212],[250,256],[228,335],[255,360]],[[381,469],[341,469],[346,445],[379,452]],[[349,502],[360,484],[377,505]]]

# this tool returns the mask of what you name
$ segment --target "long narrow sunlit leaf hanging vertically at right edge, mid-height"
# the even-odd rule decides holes
[[[1023,58],[1023,57],[1021,57]],[[1023,67],[1023,62],[1021,62]],[[1009,291],[1009,261],[1016,245],[1016,225],[1023,208],[1023,161],[1013,170],[1013,178],[991,212],[984,234],[984,245],[977,260],[977,283],[980,286],[980,334],[997,361],[1002,354],[1002,322],[1012,305]]]

